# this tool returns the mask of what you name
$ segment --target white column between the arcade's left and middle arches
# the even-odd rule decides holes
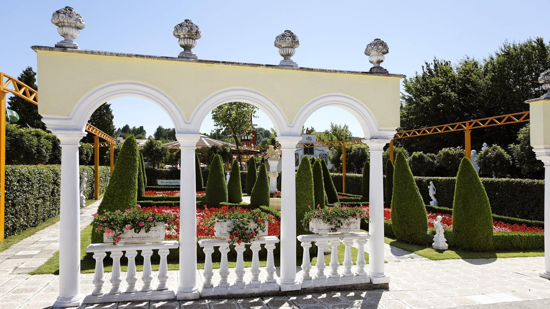
[[[199,298],[197,271],[197,215],[195,149],[199,134],[176,134],[182,153],[179,194],[179,284],[178,300]]]

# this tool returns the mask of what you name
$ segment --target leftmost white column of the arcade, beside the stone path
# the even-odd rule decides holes
[[[52,130],[61,145],[59,296],[54,307],[80,306],[80,191],[78,147],[84,130]]]

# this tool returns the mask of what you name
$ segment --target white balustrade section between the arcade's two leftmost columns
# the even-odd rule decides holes
[[[92,283],[95,288],[92,291],[92,294],[86,296],[86,301],[91,303],[95,302],[105,302],[110,298],[117,300],[125,300],[125,293],[128,295],[128,299],[133,299],[136,297],[136,292],[139,294],[141,292],[146,293],[147,295],[163,296],[162,299],[169,297],[169,295],[174,295],[174,291],[168,291],[167,281],[168,281],[168,262],[167,256],[169,249],[175,249],[179,247],[178,241],[175,240],[165,240],[158,241],[152,244],[117,244],[112,243],[105,244],[91,244],[86,247],[86,252],[94,253],[94,259],[96,260],[96,269],[94,273],[94,279]],[[155,288],[152,286],[153,275],[151,270],[151,256],[153,255],[153,250],[158,250],[158,255],[160,256],[160,266],[157,275],[158,285]],[[141,256],[143,257],[143,275],[141,276],[141,281],[143,283],[141,289],[138,291],[136,288],[136,283],[138,282],[138,277],[136,277],[136,263],[135,257],[138,256],[138,251],[141,251]],[[105,283],[105,278],[103,274],[103,259],[107,256],[107,252],[111,252],[109,255],[113,259],[113,271],[111,274],[111,290],[106,293],[103,290],[103,284]],[[125,252],[125,253],[123,253]],[[127,288],[123,291],[120,288],[120,283],[122,283],[122,277],[120,272],[120,258],[123,256],[128,258],[128,273],[126,277]],[[130,294],[131,293],[131,294]]]

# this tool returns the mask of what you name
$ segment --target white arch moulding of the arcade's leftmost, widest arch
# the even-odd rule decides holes
[[[84,129],[88,119],[101,104],[117,97],[134,96],[145,98],[160,106],[172,120],[176,133],[186,131],[185,116],[174,100],[162,90],[142,81],[113,81],[87,92],[73,107],[69,118]],[[198,132],[198,131],[197,131]]]

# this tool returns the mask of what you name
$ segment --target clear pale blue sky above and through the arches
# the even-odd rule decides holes
[[[365,46],[381,38],[389,45],[383,67],[408,76],[434,56],[453,62],[465,55],[483,58],[504,40],[549,39],[542,18],[547,0],[7,2],[0,12],[1,71],[17,76],[27,65],[36,69],[36,53],[29,47],[53,46],[61,40],[50,18],[65,5],[84,16],[86,27],[76,39],[83,49],[175,57],[182,48],[172,35],[174,25],[191,19],[202,32],[193,49],[201,59],[278,64],[282,58],[273,41],[289,29],[300,38],[293,59],[301,67],[368,70]],[[158,125],[172,126],[162,109],[149,101],[119,98],[111,103],[117,127],[144,125],[152,134]],[[259,115],[255,123],[272,126],[264,113]],[[318,110],[306,126],[323,130],[331,121],[348,124],[354,135],[361,135],[357,121],[338,108]],[[201,131],[212,128],[207,118]]]

